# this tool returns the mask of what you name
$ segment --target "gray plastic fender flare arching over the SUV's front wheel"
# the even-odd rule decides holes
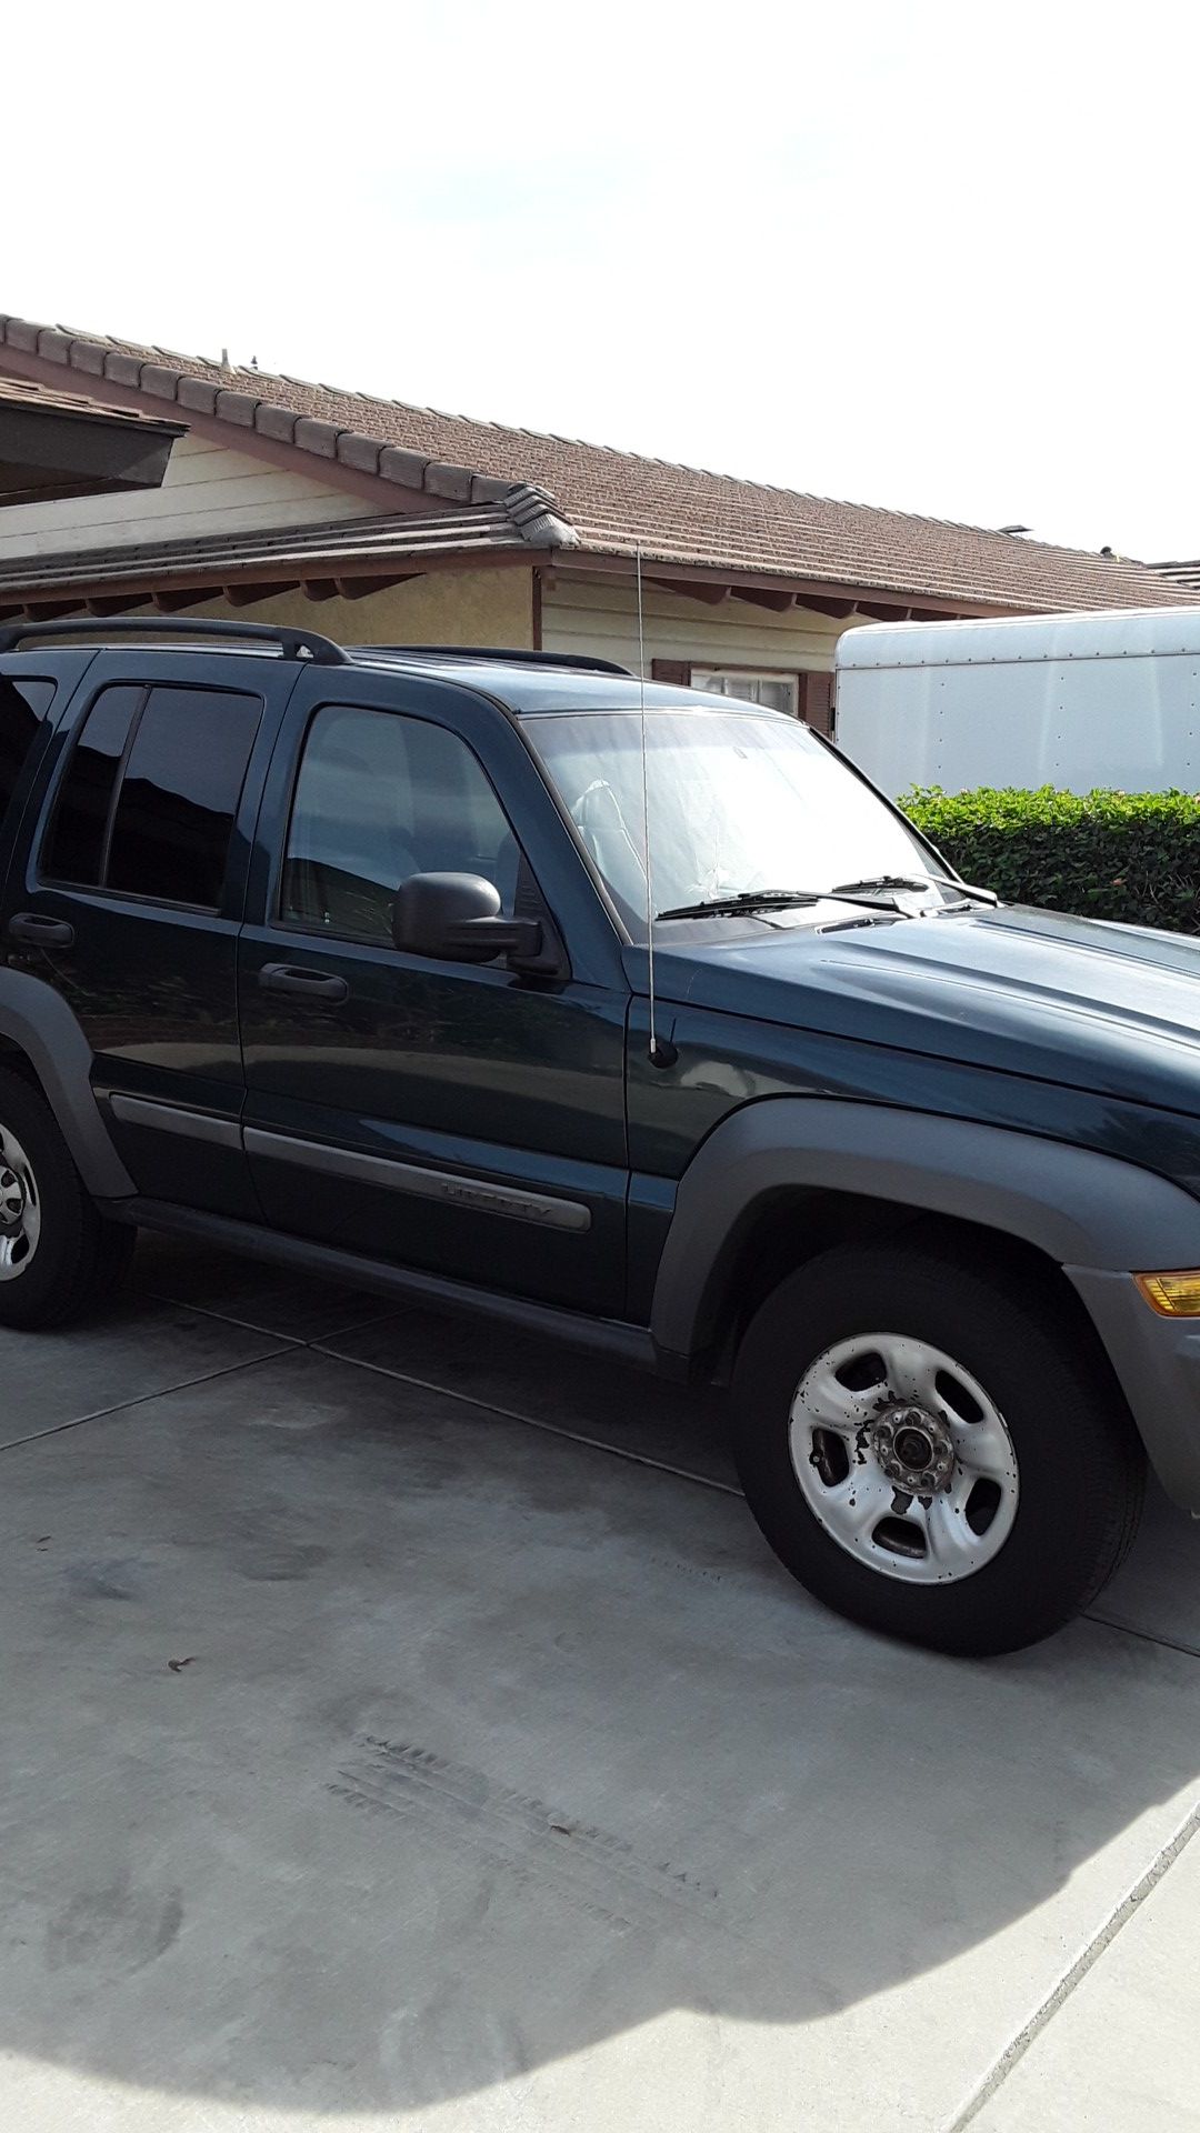
[[[739,1239],[773,1197],[805,1186],[1023,1237],[1072,1280],[1200,1265],[1200,1201],[1117,1156],[890,1105],[764,1096],[722,1120],[683,1171],[653,1290],[660,1350],[692,1357],[711,1342]]]

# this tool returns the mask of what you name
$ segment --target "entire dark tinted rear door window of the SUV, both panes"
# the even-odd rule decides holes
[[[102,689],[53,811],[53,881],[216,909],[260,697],[228,689]]]

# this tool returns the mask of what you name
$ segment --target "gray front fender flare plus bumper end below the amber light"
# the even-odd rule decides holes
[[[764,1096],[688,1165],[653,1293],[673,1376],[713,1344],[741,1237],[820,1186],[959,1216],[1046,1252],[1080,1297],[1168,1495],[1200,1514],[1200,1325],[1157,1318],[1134,1271],[1200,1267],[1200,1201],[1151,1171],[1006,1126],[824,1096]]]

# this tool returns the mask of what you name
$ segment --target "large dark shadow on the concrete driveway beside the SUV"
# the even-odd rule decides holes
[[[1183,1653],[893,1647],[737,1497],[312,1350],[4,1478],[0,2043],[117,2082],[431,2107],[675,2007],[826,2020],[1019,1928],[999,2046],[1198,1781]],[[942,1994],[878,2020],[946,2052]]]

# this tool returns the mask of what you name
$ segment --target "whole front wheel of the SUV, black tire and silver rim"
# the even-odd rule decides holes
[[[1016,1651],[1095,1598],[1144,1461],[1070,1320],[927,1252],[841,1248],[758,1310],[735,1367],[758,1525],[818,1600],[952,1653]]]

